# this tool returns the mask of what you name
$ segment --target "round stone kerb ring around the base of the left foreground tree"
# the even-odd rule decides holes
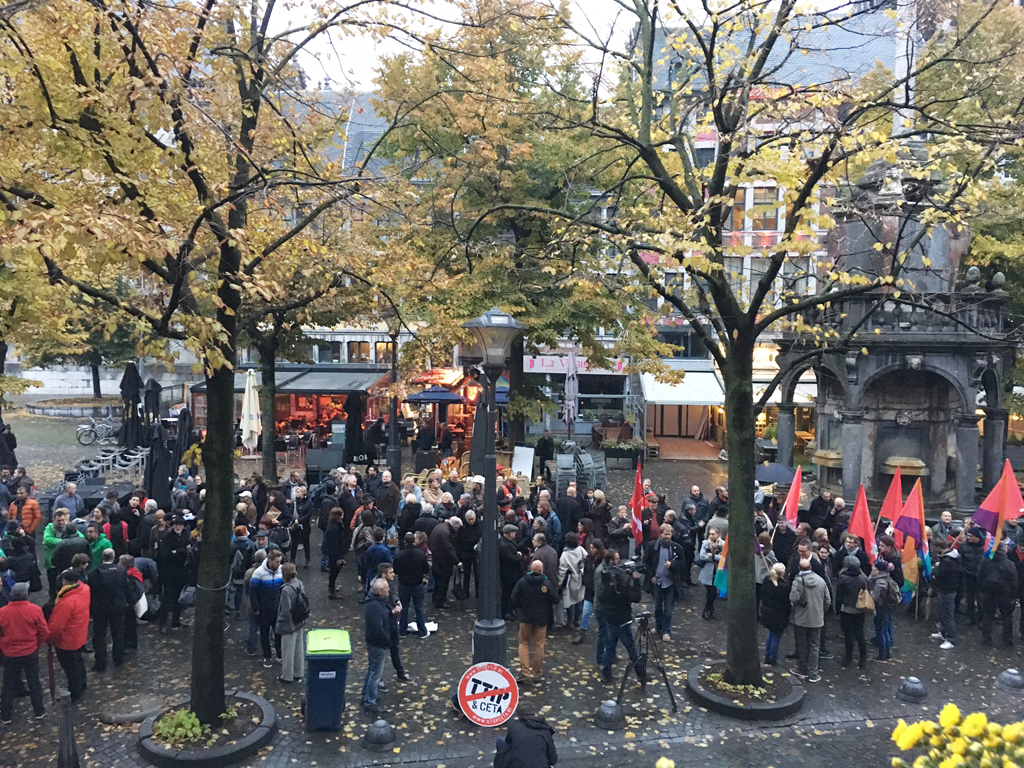
[[[170,710],[187,706],[190,699],[182,698],[166,708],[160,715],[146,718],[142,725],[139,726],[137,742],[139,754],[148,762],[160,766],[160,768],[180,768],[180,766],[215,768],[216,766],[230,765],[255,755],[273,738],[273,734],[278,730],[278,714],[273,711],[273,707],[269,701],[262,696],[257,696],[255,693],[238,690],[227,691],[225,695],[228,698],[241,698],[259,707],[262,719],[252,733],[243,736],[233,744],[210,749],[197,746],[175,750],[172,746],[158,742],[153,737],[153,724],[157,722],[159,717]]]

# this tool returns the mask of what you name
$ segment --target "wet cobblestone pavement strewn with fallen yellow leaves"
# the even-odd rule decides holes
[[[713,485],[722,475],[720,464],[651,462],[648,469],[654,486],[678,500],[691,482]],[[631,473],[613,470],[609,475],[609,496],[620,502],[628,497]],[[318,534],[315,537],[318,539]],[[318,553],[318,541],[314,542]],[[301,558],[300,558],[301,559]],[[354,589],[354,569],[346,566],[341,583],[344,599],[328,602],[326,575],[315,561],[299,569],[312,600],[312,625],[344,627],[352,632],[354,657],[348,670],[349,708],[339,733],[307,733],[299,714],[301,686],[275,682],[279,669],[264,670],[244,652],[245,626],[230,622],[226,633],[227,685],[252,690],[275,706],[280,730],[271,745],[244,765],[281,767],[309,766],[476,766],[489,765],[498,732],[476,728],[457,718],[447,708],[447,698],[471,660],[475,600],[466,601],[465,610],[428,611],[438,621],[439,632],[426,640],[402,642],[402,656],[411,684],[399,684],[386,668],[387,690],[380,703],[395,727],[397,740],[392,752],[371,754],[360,739],[371,719],[358,711],[359,689],[366,670],[361,642],[361,618]],[[1018,647],[982,648],[977,630],[962,628],[953,651],[943,652],[928,639],[933,631],[924,618],[897,616],[895,660],[870,664],[863,672],[843,670],[839,659],[823,663],[823,680],[810,685],[803,710],[774,724],[751,724],[707,712],[692,705],[683,690],[685,671],[703,658],[724,655],[724,623],[699,618],[702,591],[686,590],[676,607],[674,639],[666,644],[670,680],[679,699],[679,712],[669,712],[668,695],[660,683],[646,692],[634,687],[627,691],[625,706],[628,726],[607,732],[593,726],[593,713],[600,701],[613,695],[597,679],[594,666],[593,632],[583,645],[569,644],[567,633],[557,632],[548,642],[545,664],[547,683],[523,689],[557,728],[559,765],[568,766],[652,766],[660,756],[686,766],[869,766],[888,765],[893,744],[889,733],[898,717],[935,716],[941,706],[952,700],[969,711],[983,709],[994,719],[1020,718],[1022,699],[995,690],[995,675],[1008,667],[1018,667]],[[720,611],[724,612],[724,611]],[[763,638],[763,630],[759,631]],[[79,708],[76,733],[83,766],[144,765],[135,752],[133,727],[103,726],[98,715],[103,710],[130,710],[132,703],[154,694],[168,699],[188,690],[188,629],[168,636],[143,626],[139,651],[121,670],[89,677],[86,701]],[[510,628],[510,667],[517,671]],[[840,633],[829,626],[829,649],[840,650]],[[793,641],[783,642],[783,650]],[[45,677],[45,664],[43,665]],[[57,670],[58,685],[62,677]],[[904,676],[916,675],[928,686],[924,705],[904,702],[895,696]],[[44,681],[44,689],[46,683]],[[617,689],[617,687],[616,687]],[[53,708],[50,713],[55,713]],[[57,722],[54,714],[41,723],[28,720],[26,699],[15,708],[15,722],[0,731],[0,766],[56,765]],[[28,720],[28,722],[27,722]]]

